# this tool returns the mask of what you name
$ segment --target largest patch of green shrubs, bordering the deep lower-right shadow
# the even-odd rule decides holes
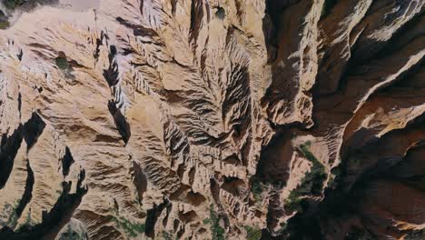
[[[285,199],[285,209],[293,211],[301,211],[301,196],[302,195],[320,195],[323,189],[323,182],[326,180],[326,172],[321,162],[310,151],[311,142],[306,142],[300,146],[300,151],[311,163],[311,170],[301,180],[301,185],[298,185],[292,190],[291,194]]]

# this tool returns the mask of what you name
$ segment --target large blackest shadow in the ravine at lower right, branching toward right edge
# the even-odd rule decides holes
[[[425,116],[425,115],[424,115]],[[397,165],[400,163],[407,164],[403,162],[403,159],[398,159],[397,161],[386,161],[388,158],[383,157],[380,161],[377,161],[375,164],[364,168],[361,170],[360,175],[356,178],[351,178],[354,183],[342,184],[346,178],[351,177],[348,167],[348,159],[358,159],[361,155],[368,155],[369,153],[375,151],[377,147],[382,145],[381,141],[388,140],[392,135],[397,136],[405,131],[423,131],[423,121],[425,120],[424,116],[420,116],[406,126],[405,129],[398,129],[392,131],[389,135],[384,135],[381,139],[371,143],[370,145],[365,145],[361,149],[356,149],[347,153],[344,156],[344,161],[341,162],[341,165],[338,167],[341,169],[341,174],[338,176],[338,183],[336,183],[334,188],[327,188],[324,191],[324,198],[320,203],[306,202],[302,201],[302,211],[297,215],[293,216],[287,223],[287,226],[282,233],[283,239],[296,240],[296,239],[305,239],[305,240],[316,240],[321,239],[321,225],[326,225],[328,219],[331,219],[333,223],[338,220],[341,222],[349,221],[354,217],[360,217],[364,219],[364,215],[361,213],[361,199],[365,199],[368,193],[365,189],[370,189],[370,185],[373,182],[379,180],[397,180],[403,182],[407,181],[408,178],[403,179],[400,176],[394,175],[391,171],[398,169]],[[413,147],[408,149],[408,153]],[[404,158],[406,158],[406,156]],[[422,179],[422,178],[419,178]],[[420,180],[421,181],[421,180]],[[411,184],[411,183],[410,183]],[[351,187],[349,187],[351,185]],[[374,236],[374,233],[369,229],[369,225],[362,223],[361,232],[367,233],[371,237]],[[352,226],[354,227],[354,226]],[[360,226],[357,226],[360,227]],[[391,227],[391,226],[389,226]],[[357,231],[356,229],[351,229],[351,232]],[[393,231],[398,231],[393,229]],[[351,239],[351,232],[347,233],[347,237],[344,239]],[[281,238],[282,239],[282,238]],[[371,238],[376,239],[376,238]]]

